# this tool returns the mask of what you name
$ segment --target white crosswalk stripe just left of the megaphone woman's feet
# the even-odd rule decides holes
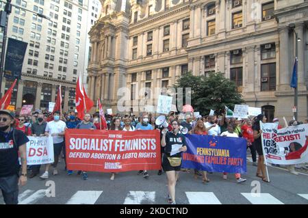
[[[124,204],[154,204],[155,191],[129,191]]]

